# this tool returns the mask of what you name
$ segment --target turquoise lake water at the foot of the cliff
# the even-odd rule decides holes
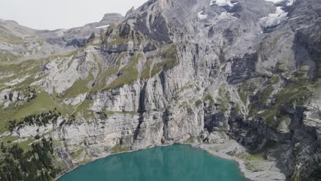
[[[115,154],[78,167],[58,181],[243,181],[237,163],[187,145]]]

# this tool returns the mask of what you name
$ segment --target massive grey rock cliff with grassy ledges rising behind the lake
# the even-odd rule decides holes
[[[320,11],[316,0],[147,1],[80,49],[39,60],[28,81],[62,115],[14,133],[52,135],[67,169],[119,149],[233,138],[276,159],[287,179],[313,177]],[[0,95],[23,99],[8,86]]]

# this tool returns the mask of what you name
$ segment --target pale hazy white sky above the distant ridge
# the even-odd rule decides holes
[[[107,12],[126,14],[147,0],[1,0],[0,19],[34,29],[60,29],[97,22]]]

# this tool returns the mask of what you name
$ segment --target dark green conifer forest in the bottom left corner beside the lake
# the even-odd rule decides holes
[[[0,159],[0,180],[49,181],[59,173],[59,170],[53,167],[51,138],[43,138],[40,142],[34,143],[32,149],[27,152],[18,145],[4,149],[6,151]]]

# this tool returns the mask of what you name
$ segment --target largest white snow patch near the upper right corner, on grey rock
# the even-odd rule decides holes
[[[287,12],[283,11],[281,7],[276,7],[276,12],[269,14],[260,19],[261,25],[264,27],[274,27],[280,25],[287,20]]]

